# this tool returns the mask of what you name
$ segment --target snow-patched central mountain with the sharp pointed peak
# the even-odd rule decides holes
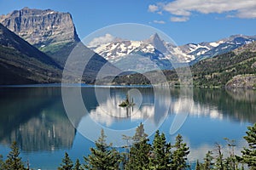
[[[113,38],[111,42],[87,46],[122,70],[126,67],[127,70],[132,68],[138,71],[172,69],[173,62],[189,62],[194,59],[193,56],[184,54],[177,46],[160,39],[157,33],[142,41]]]

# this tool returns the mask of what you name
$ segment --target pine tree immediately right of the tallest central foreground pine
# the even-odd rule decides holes
[[[156,131],[153,140],[153,150],[149,156],[150,169],[169,169],[171,163],[171,144],[166,143],[166,136],[159,130]]]

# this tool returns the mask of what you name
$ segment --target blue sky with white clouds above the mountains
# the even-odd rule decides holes
[[[0,14],[24,7],[69,12],[80,38],[119,23],[153,26],[178,45],[256,35],[255,0],[0,0]]]

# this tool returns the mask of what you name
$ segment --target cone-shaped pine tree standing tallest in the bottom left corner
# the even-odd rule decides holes
[[[3,169],[5,170],[25,170],[25,166],[21,161],[20,150],[18,144],[14,142],[10,146],[11,150],[7,156],[7,160],[3,162]]]

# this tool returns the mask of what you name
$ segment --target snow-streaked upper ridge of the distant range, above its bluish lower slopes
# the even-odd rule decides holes
[[[189,65],[194,65],[201,59],[212,58],[218,54],[230,52],[233,49],[253,41],[256,41],[256,36],[233,35],[216,42],[188,43],[182,46],[177,46],[170,42],[165,42],[160,39],[160,36],[157,33],[154,33],[148,39],[141,41],[123,40],[120,37],[115,37],[112,42],[91,46],[90,48],[113,63],[114,59],[121,59],[122,56],[136,53],[137,51],[154,54],[154,51],[157,50],[158,54],[154,54],[157,58],[174,59],[172,60],[173,62],[187,62]],[[150,48],[148,48],[146,44],[151,45]],[[145,56],[145,54],[143,54],[143,56]]]

